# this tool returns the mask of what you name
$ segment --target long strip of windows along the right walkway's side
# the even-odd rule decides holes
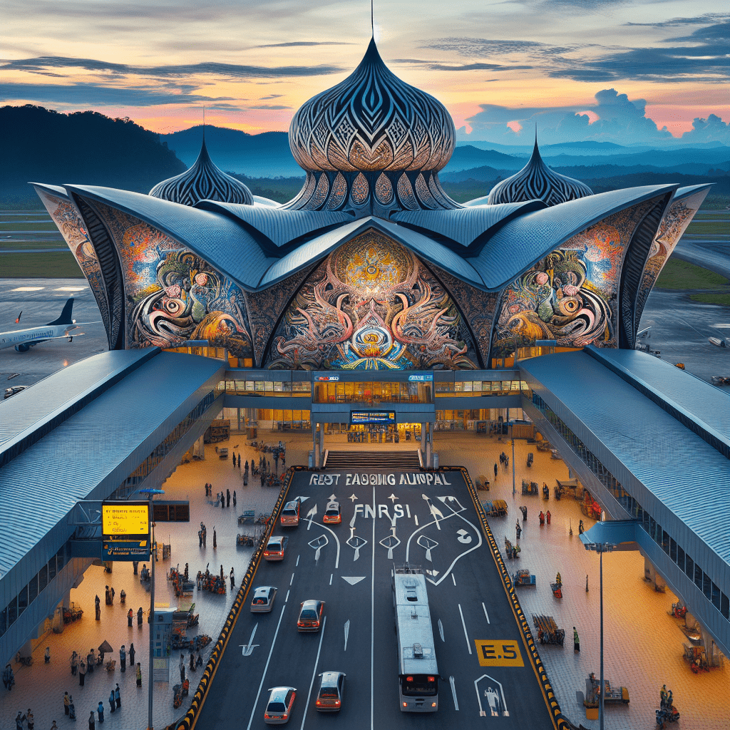
[[[583,461],[583,464],[591,469],[601,483],[612,493],[621,506],[629,512],[642,529],[644,529],[649,537],[666,553],[680,570],[684,570],[685,575],[694,580],[697,588],[704,593],[705,598],[721,612],[726,621],[730,621],[730,599],[723,591],[718,588],[709,575],[702,570],[696,561],[694,561],[688,553],[682,548],[675,539],[656,521],[647,510],[642,507],[629,492],[627,492],[621,483],[614,477],[611,472],[599,461],[596,456],[591,453],[585,444],[565,425],[545,401],[537,395],[532,394],[532,402],[535,407],[545,415],[550,424],[556,429],[561,436],[569,443],[573,452]]]

